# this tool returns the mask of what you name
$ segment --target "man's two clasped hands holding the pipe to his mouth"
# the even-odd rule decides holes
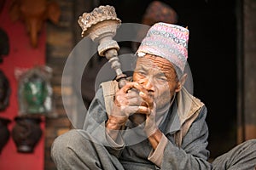
[[[128,118],[134,121],[135,124],[144,124],[144,132],[147,134],[149,141],[152,140],[152,145],[155,147],[159,143],[155,140],[155,134],[161,137],[161,133],[155,122],[156,105],[154,103],[154,92],[148,92],[142,85],[137,82],[127,82],[125,86],[115,94],[113,110],[108,115],[106,124],[108,133],[113,139],[117,137],[116,132],[109,130],[119,130]],[[142,117],[145,117],[143,119]],[[159,139],[159,138],[158,138]]]

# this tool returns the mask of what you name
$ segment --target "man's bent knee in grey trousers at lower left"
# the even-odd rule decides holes
[[[71,130],[57,137],[51,156],[58,169],[96,169],[101,166],[101,157],[106,161],[109,156],[107,161],[111,161],[108,150],[84,130]]]

